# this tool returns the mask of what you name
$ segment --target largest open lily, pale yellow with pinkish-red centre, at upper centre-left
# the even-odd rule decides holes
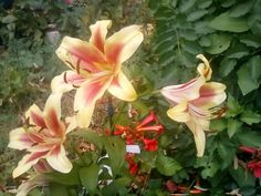
[[[52,91],[76,90],[74,111],[77,111],[80,127],[90,125],[95,103],[106,90],[127,102],[137,97],[122,72],[122,64],[137,50],[144,35],[139,25],[129,25],[106,39],[111,25],[111,20],[97,21],[90,27],[92,35],[88,42],[65,37],[56,50],[58,56],[72,70],[53,79]]]

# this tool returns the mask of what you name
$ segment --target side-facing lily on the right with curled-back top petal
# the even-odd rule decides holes
[[[167,115],[174,121],[186,123],[194,134],[197,156],[202,156],[206,145],[205,131],[209,131],[210,120],[219,116],[219,109],[227,95],[226,85],[218,82],[207,82],[212,70],[208,60],[197,55],[202,61],[197,68],[199,75],[187,83],[169,85],[161,89],[161,94],[173,107]]]

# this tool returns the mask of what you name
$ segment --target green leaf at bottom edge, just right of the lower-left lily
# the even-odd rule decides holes
[[[97,188],[98,171],[100,166],[95,163],[79,171],[81,183],[90,192],[91,195],[95,194]]]

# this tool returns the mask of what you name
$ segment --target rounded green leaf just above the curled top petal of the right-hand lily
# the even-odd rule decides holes
[[[211,47],[206,48],[210,54],[219,54],[230,47],[231,37],[229,34],[210,34]]]

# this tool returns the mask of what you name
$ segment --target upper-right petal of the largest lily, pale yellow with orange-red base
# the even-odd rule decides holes
[[[105,54],[109,64],[118,65],[126,61],[143,42],[139,25],[129,25],[109,37],[105,42]]]

